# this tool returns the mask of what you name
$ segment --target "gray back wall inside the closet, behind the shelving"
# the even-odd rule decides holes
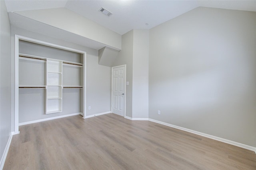
[[[19,53],[42,58],[83,63],[82,54],[52,48],[32,42],[19,41]],[[82,67],[62,65],[63,86],[83,86]],[[19,86],[33,85],[46,86],[46,61],[19,60]],[[82,113],[82,88],[62,89],[62,112],[46,114],[46,89],[20,88],[19,89],[19,123],[30,122],[56,116]]]

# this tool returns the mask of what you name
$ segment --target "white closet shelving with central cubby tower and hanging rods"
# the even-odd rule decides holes
[[[24,65],[20,64],[20,67],[26,68],[22,70],[28,70],[20,74],[19,89],[46,89],[45,114],[62,112],[63,89],[83,88],[81,63],[28,54],[19,54],[19,59],[25,61]]]

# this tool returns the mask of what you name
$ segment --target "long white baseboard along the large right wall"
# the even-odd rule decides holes
[[[214,140],[218,140],[220,142],[224,142],[224,143],[227,143],[227,144],[231,144],[231,145],[234,145],[234,146],[238,146],[240,148],[245,148],[245,149],[248,149],[248,150],[252,150],[256,153],[256,147],[252,147],[252,146],[248,146],[246,144],[241,144],[241,143],[238,143],[238,142],[234,142],[232,140],[227,140],[227,139],[224,139],[224,138],[219,138],[217,136],[212,136],[212,135],[209,135],[209,134],[205,134],[205,133],[202,133],[202,132],[197,132],[195,130],[191,130],[191,129],[187,129],[187,128],[182,128],[180,126],[176,126],[176,125],[173,125],[173,124],[168,124],[166,122],[161,122],[161,121],[158,121],[158,120],[154,120],[154,119],[148,119],[149,121],[151,122],[155,122],[155,123],[159,123],[159,124],[163,124],[163,125],[166,125],[166,126],[170,126],[172,128],[176,128],[176,129],[180,129],[180,130],[184,130],[186,132],[190,132],[190,133],[193,133],[193,134],[197,134],[197,135],[200,135],[200,136],[204,136],[206,138],[211,138],[211,139],[214,139]]]

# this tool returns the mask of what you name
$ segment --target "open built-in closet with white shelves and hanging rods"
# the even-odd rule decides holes
[[[18,41],[19,123],[84,114],[84,54]]]

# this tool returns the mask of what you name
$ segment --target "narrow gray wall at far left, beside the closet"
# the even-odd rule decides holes
[[[0,1],[0,158],[11,133],[11,29],[5,2]]]

